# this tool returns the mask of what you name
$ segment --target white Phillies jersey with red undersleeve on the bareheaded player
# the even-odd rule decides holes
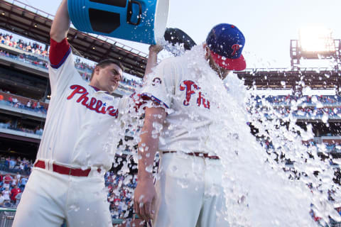
[[[119,131],[120,99],[82,79],[66,39],[51,40],[49,76],[51,100],[37,159],[109,170],[119,140],[112,133]]]

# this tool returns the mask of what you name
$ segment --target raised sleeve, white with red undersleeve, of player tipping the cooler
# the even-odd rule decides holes
[[[51,92],[55,93],[58,90],[64,90],[77,72],[72,50],[66,38],[60,43],[57,43],[52,38],[50,39],[49,58],[50,65],[48,67],[48,73]]]

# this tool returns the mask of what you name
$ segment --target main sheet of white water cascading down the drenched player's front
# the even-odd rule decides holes
[[[207,74],[209,72],[207,70]],[[321,184],[320,179],[313,175],[315,170],[325,172],[319,177],[323,179],[325,187],[336,187],[328,163],[320,161],[316,150],[304,147],[302,136],[296,132],[300,131],[307,138],[312,138],[313,134],[298,128],[292,116],[281,119],[276,111],[272,112],[272,121],[262,116],[262,112],[247,114],[245,99],[242,99],[244,84],[233,74],[227,78],[227,84],[229,92],[221,92],[222,82],[212,75],[210,86],[205,89],[212,87],[215,94],[219,94],[210,98],[216,100],[220,107],[214,114],[217,118],[210,128],[210,147],[223,160],[229,223],[232,226],[313,226],[313,219],[309,215],[310,204],[315,205],[325,220],[330,214],[338,218],[328,201],[327,190],[320,193],[313,189],[312,193],[307,187],[308,183],[316,187]],[[289,123],[289,130],[281,126],[280,119]],[[286,158],[295,161],[296,170],[305,172],[307,177],[289,180],[288,173],[283,172],[285,163],[277,163],[266,155],[264,148],[251,135],[247,121],[263,130],[259,135],[266,135],[272,141],[275,149],[271,154],[286,155]],[[234,132],[238,132],[239,138],[233,137]],[[309,153],[314,154],[315,160],[308,157]],[[238,204],[240,195],[245,196],[244,204],[247,206]]]

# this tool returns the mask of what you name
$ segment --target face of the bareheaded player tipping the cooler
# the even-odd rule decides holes
[[[119,87],[122,80],[122,70],[116,64],[110,64],[106,67],[99,67],[97,72],[97,86],[106,92],[114,92]]]

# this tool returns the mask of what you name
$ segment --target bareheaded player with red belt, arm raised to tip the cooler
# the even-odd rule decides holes
[[[63,221],[67,226],[112,226],[104,173],[114,162],[119,110],[126,99],[109,93],[119,86],[123,69],[113,60],[99,62],[87,84],[74,66],[69,28],[63,0],[50,31],[50,105],[15,227],[60,227]]]

